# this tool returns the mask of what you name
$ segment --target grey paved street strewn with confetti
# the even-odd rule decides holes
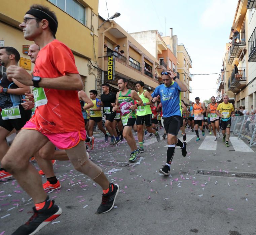
[[[231,135],[226,148],[222,136],[215,142],[208,130],[205,137],[199,135],[201,140],[195,142],[195,133],[188,130],[187,156],[176,148],[169,177],[158,173],[166,162],[167,140],[157,143],[147,134],[146,151],[129,164],[126,142],[109,147],[97,137],[89,154],[120,186],[115,208],[97,214],[100,187],[73,170],[70,162],[58,161],[54,171],[62,188],[49,196],[63,214],[38,234],[256,234],[256,178],[236,177],[256,172],[255,146],[249,148],[247,140]],[[0,234],[11,234],[28,220],[32,206],[15,180],[1,181]]]

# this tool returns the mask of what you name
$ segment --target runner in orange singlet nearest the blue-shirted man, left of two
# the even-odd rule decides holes
[[[199,102],[199,97],[195,97],[195,104],[193,105],[192,114],[194,114],[194,128],[195,134],[197,136],[196,141],[199,141],[199,133],[198,133],[198,126],[202,131],[202,135],[205,135],[205,130],[203,129],[203,122],[204,122],[204,113],[206,112],[205,105]]]

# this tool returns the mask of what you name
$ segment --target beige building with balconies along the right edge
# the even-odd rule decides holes
[[[256,3],[239,0],[237,3],[232,29],[240,33],[240,40],[233,37],[227,44],[227,64],[232,72],[228,78],[228,91],[234,94],[235,107],[245,106],[251,111],[256,108]],[[230,33],[230,36],[233,36]],[[238,73],[234,65],[237,65]]]

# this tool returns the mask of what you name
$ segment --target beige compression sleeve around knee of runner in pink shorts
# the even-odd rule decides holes
[[[92,180],[102,173],[101,168],[89,159],[89,154],[85,150],[83,141],[80,141],[78,145],[71,149],[66,149],[66,153],[74,168]]]

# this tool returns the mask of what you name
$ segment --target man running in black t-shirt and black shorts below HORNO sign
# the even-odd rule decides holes
[[[105,127],[107,128],[108,133],[111,136],[110,145],[113,145],[115,142],[118,143],[121,141],[116,133],[116,126],[114,126],[113,123],[116,112],[113,112],[112,104],[115,104],[116,102],[116,94],[109,91],[109,85],[107,83],[103,83],[101,86],[103,94],[101,95],[101,102],[98,101],[97,104],[104,106],[104,112],[106,114]]]

